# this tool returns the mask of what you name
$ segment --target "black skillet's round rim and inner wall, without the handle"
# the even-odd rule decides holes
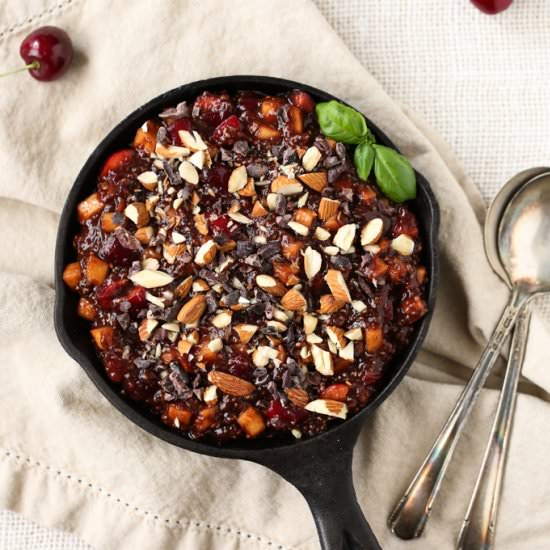
[[[90,354],[88,351],[80,349],[78,344],[74,341],[74,335],[71,335],[69,327],[67,326],[68,319],[66,318],[66,314],[68,313],[67,303],[70,302],[71,296],[74,293],[72,293],[63,283],[62,274],[67,258],[71,256],[71,252],[74,256],[74,249],[72,246],[74,233],[71,233],[70,229],[75,224],[76,205],[78,201],[81,200],[81,197],[83,198],[86,194],[86,189],[90,192],[90,189],[95,185],[95,178],[106,153],[109,152],[110,149],[118,147],[120,143],[117,142],[120,142],[123,136],[132,130],[135,131],[135,128],[141,126],[148,117],[152,114],[157,114],[163,107],[196,96],[204,90],[223,89],[225,87],[243,90],[256,89],[263,92],[271,89],[271,93],[280,93],[299,88],[310,93],[316,100],[328,101],[335,99],[342,103],[346,103],[323,90],[292,80],[269,76],[232,75],[208,78],[184,84],[154,97],[124,117],[90,154],[76,177],[65,201],[59,221],[55,247],[54,324],[57,338],[65,351],[84,369],[101,394],[124,416],[145,431],[168,443],[200,454],[261,462],[262,458],[266,461],[273,458],[272,454],[274,450],[291,452],[295,449],[300,449],[303,452],[311,452],[316,446],[323,445],[328,440],[340,442],[346,435],[358,433],[368,415],[376,409],[376,407],[378,407],[401,382],[424,342],[435,306],[436,290],[439,281],[439,248],[437,242],[439,206],[424,176],[415,171],[418,193],[417,198],[414,201],[410,201],[410,204],[413,205],[413,209],[425,210],[425,212],[423,212],[423,217],[419,217],[419,222],[422,227],[423,235],[423,260],[429,273],[428,285],[426,288],[428,313],[417,323],[415,327],[416,332],[407,349],[403,350],[392,361],[391,375],[387,375],[389,380],[377,391],[373,400],[368,403],[366,407],[344,422],[333,425],[327,431],[302,440],[248,440],[217,446],[204,441],[191,440],[185,435],[172,430],[168,426],[162,424],[160,420],[140,410],[138,405],[123,398],[102,373],[103,367],[95,355],[95,350],[91,348],[92,353]],[[392,141],[368,117],[365,116],[365,118],[369,128],[376,136],[379,143],[397,149]],[[128,141],[126,141],[125,144],[127,146]],[[72,313],[75,315],[75,312]],[[90,355],[92,355],[92,357],[90,357]],[[279,452],[277,454],[279,454]]]

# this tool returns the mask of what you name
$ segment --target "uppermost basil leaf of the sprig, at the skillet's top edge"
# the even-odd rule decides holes
[[[326,101],[315,107],[321,132],[342,143],[360,143],[370,135],[365,117],[355,109],[339,103]]]

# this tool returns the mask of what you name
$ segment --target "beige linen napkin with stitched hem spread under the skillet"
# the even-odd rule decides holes
[[[158,93],[225,74],[323,88],[367,113],[431,182],[442,212],[442,273],[424,350],[369,419],[354,462],[361,505],[384,548],[452,548],[497,393],[483,392],[426,536],[388,531],[391,506],[447,417],[505,303],[482,246],[483,207],[447,146],[396,105],[308,1],[7,0],[2,65],[40,24],[72,36],[63,79],[0,88],[0,506],[106,549],[318,548],[299,493],[266,469],[192,454],[126,420],[63,352],[52,326],[58,213],[88,154]],[[388,59],[391,63],[391,59]],[[452,106],[449,106],[452,108]],[[535,320],[518,399],[498,548],[550,537],[548,334]]]

